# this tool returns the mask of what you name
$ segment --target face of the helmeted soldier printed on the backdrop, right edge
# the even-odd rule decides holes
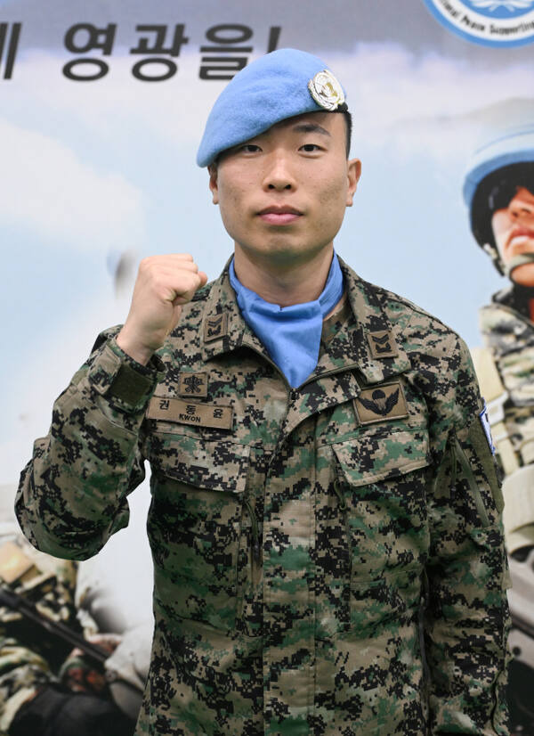
[[[518,187],[508,207],[493,213],[491,227],[505,266],[515,256],[534,253],[534,194]],[[522,286],[534,287],[534,263],[514,268],[511,277]]]

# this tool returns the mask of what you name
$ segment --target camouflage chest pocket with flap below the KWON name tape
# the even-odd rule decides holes
[[[172,624],[235,625],[248,446],[154,435],[148,529],[155,605]]]

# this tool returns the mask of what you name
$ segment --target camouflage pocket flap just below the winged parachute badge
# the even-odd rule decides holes
[[[333,445],[344,478],[351,486],[395,478],[430,463],[425,427],[390,434],[364,435]]]

